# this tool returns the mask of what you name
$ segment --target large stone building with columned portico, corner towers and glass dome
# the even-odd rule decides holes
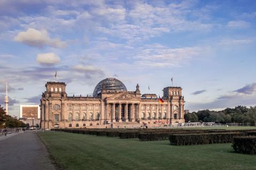
[[[162,103],[156,94],[135,91],[115,78],[106,78],[92,96],[67,96],[66,84],[47,82],[41,99],[42,128],[109,128],[169,126],[184,123],[181,87],[165,87]]]

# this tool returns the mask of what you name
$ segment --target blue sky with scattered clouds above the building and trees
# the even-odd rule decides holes
[[[45,83],[92,94],[183,88],[185,109],[256,105],[256,1],[0,1],[0,104],[40,104]],[[148,89],[150,87],[150,90]]]

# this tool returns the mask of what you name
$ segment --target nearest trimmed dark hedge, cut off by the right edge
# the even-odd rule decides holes
[[[256,155],[256,136],[234,137],[232,147],[238,153]]]

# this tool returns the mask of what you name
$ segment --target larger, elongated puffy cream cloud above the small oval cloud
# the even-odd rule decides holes
[[[62,42],[58,38],[50,38],[46,30],[40,31],[34,28],[29,28],[27,31],[21,31],[14,38],[14,41],[36,47],[43,47],[47,45],[55,48],[63,48],[67,46],[66,42]]]

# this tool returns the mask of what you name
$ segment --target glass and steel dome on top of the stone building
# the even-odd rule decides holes
[[[94,93],[92,95],[97,96],[100,92],[102,92],[102,85],[105,85],[106,90],[113,91],[127,91],[125,84],[123,84],[120,80],[112,77],[108,77],[104,80],[101,80],[96,87],[94,88]]]

